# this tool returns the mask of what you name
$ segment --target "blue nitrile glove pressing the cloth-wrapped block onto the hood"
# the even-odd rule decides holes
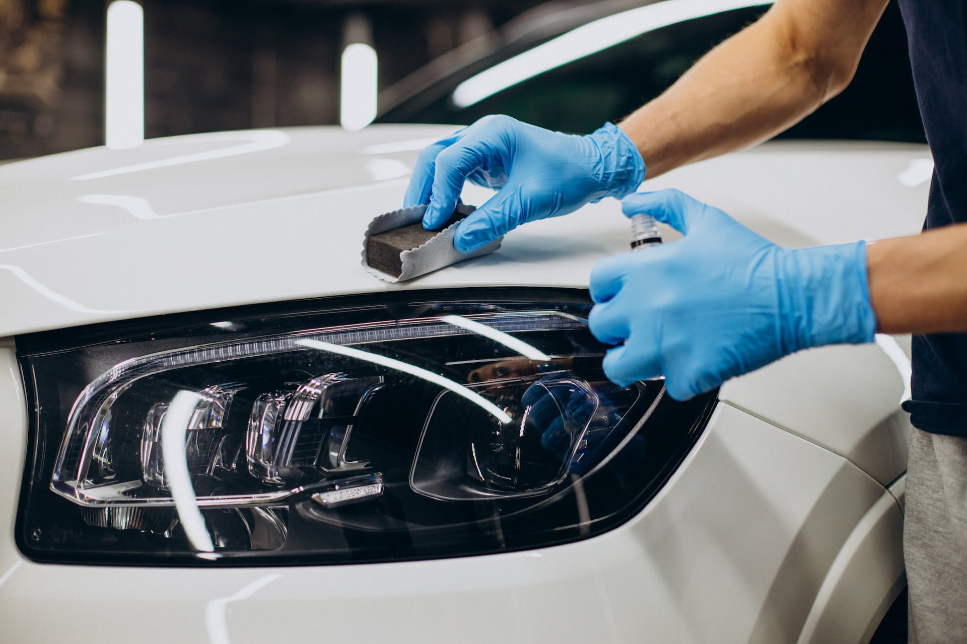
[[[403,205],[429,203],[424,227],[440,228],[467,179],[499,190],[456,227],[454,248],[461,253],[528,221],[603,197],[621,199],[644,181],[645,162],[628,134],[610,123],[575,136],[488,116],[420,153]]]

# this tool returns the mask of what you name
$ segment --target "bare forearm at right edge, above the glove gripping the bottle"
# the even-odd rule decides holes
[[[871,243],[866,269],[878,331],[967,331],[967,224]]]

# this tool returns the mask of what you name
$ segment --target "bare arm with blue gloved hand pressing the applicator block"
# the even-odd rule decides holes
[[[470,181],[496,188],[457,224],[454,247],[480,248],[528,221],[634,191],[642,177],[765,140],[841,90],[888,0],[777,0],[621,127],[587,136],[484,117],[425,148],[404,206],[424,226],[450,219]],[[639,154],[640,153],[640,154]]]

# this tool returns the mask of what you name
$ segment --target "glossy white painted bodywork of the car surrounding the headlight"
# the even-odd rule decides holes
[[[336,294],[583,288],[597,260],[628,250],[630,224],[605,200],[413,282],[366,274],[366,223],[400,205],[417,151],[451,130],[228,132],[0,166],[0,337]],[[790,246],[888,238],[920,229],[924,159],[923,146],[767,144],[645,188],[678,187]],[[486,195],[467,188],[464,201]],[[898,353],[806,351],[727,383],[659,496],[594,539],[427,562],[188,570],[19,554],[26,408],[13,342],[0,340],[0,639],[862,641],[902,574],[900,509],[885,490],[905,466],[898,341]],[[843,611],[858,583],[862,601]]]

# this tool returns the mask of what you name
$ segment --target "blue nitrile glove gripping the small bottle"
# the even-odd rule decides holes
[[[592,333],[604,373],[622,385],[665,377],[686,400],[809,347],[872,342],[876,321],[863,241],[792,250],[678,190],[630,195],[685,238],[599,262]]]

